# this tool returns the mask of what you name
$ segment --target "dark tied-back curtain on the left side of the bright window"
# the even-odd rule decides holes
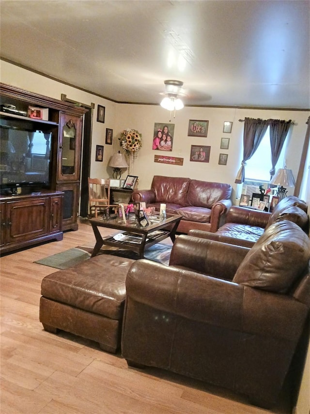
[[[267,128],[268,121],[259,118],[245,118],[243,132],[243,160],[234,181],[235,183],[241,184],[244,182],[245,166],[247,165],[247,161],[260,145]]]

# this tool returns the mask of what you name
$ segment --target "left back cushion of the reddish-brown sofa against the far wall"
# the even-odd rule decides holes
[[[152,189],[155,192],[156,202],[185,206],[189,182],[189,178],[155,175]]]

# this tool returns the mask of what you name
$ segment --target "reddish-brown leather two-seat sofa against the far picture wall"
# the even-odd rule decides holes
[[[182,216],[177,232],[216,232],[232,205],[231,194],[230,184],[155,175],[151,189],[134,190],[132,199],[144,201],[146,207],[155,207],[156,211],[161,203],[166,204],[166,213]]]

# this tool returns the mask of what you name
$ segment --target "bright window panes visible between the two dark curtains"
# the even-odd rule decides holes
[[[276,171],[278,168],[284,166],[284,155],[288,137],[284,141],[282,151],[279,156],[278,163],[276,165]],[[246,181],[259,181],[269,182],[271,170],[271,149],[270,149],[270,137],[269,127],[254,155],[247,161],[245,167],[245,180]]]

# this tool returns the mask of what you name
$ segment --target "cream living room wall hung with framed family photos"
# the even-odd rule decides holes
[[[79,90],[72,86],[57,82],[37,73],[1,61],[1,82],[21,87],[23,89],[60,99],[61,94],[67,98],[90,105],[95,104],[93,111],[92,132],[92,177],[111,177],[112,169],[108,166],[113,152],[121,150],[117,137],[126,128],[137,129],[142,134],[142,148],[134,162],[132,174],[139,176],[139,188],[149,188],[153,176],[181,176],[206,181],[227,182],[233,185],[233,200],[240,195],[241,185],[236,185],[234,179],[240,167],[243,151],[243,122],[239,119],[259,117],[263,119],[292,119],[295,125],[288,136],[286,163],[293,170],[296,177],[300,155],[306,134],[306,121],[310,111],[273,110],[273,109],[243,109],[219,107],[185,107],[177,111],[175,118],[170,112],[159,105],[118,104],[91,93]],[[159,96],[154,100],[159,101]],[[105,123],[97,122],[97,105],[105,107]],[[208,121],[207,137],[187,136],[189,120]],[[224,121],[233,122],[231,133],[223,133]],[[172,151],[152,149],[155,123],[174,124]],[[113,130],[112,145],[105,144],[106,128]],[[221,138],[230,138],[229,149],[220,149]],[[95,161],[96,145],[104,146],[103,162]],[[210,160],[208,163],[190,161],[192,145],[210,146]],[[219,153],[228,154],[227,165],[219,165]],[[154,156],[171,156],[183,158],[183,166],[155,163]],[[122,178],[126,178],[128,171],[124,171]],[[293,188],[288,193],[292,194]]]

